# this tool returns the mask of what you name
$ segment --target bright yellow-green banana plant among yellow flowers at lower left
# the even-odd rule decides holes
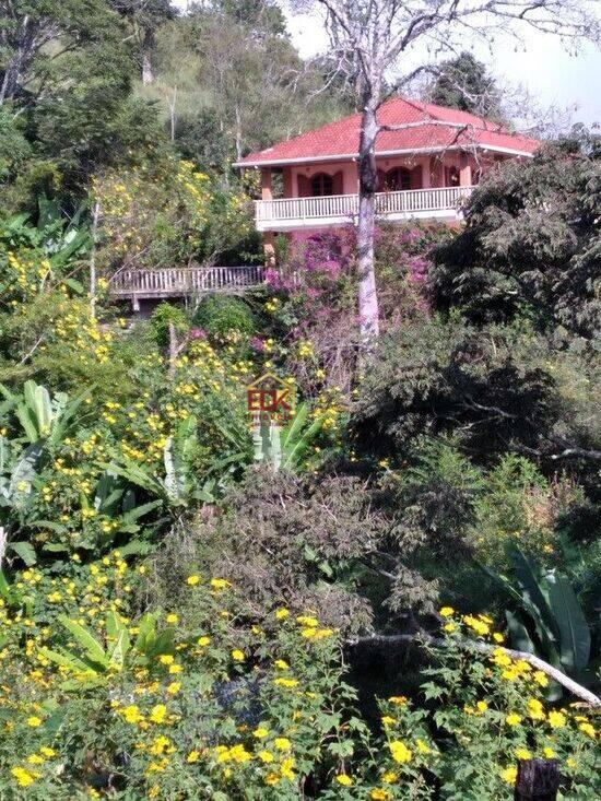
[[[110,675],[123,670],[146,668],[162,653],[173,653],[175,629],[156,627],[158,614],[146,613],[137,624],[135,638],[118,613],[106,616],[106,635],[82,626],[67,615],[58,621],[73,640],[70,648],[57,650],[40,648],[40,653],[64,670],[70,678],[62,683],[63,690],[79,690],[104,683]]]

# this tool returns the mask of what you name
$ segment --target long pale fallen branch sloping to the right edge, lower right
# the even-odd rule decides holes
[[[601,707],[601,698],[594,695],[594,693],[591,693],[590,690],[587,690],[581,684],[578,684],[568,675],[563,673],[557,668],[554,668],[552,664],[549,664],[549,662],[545,662],[540,657],[537,657],[533,653],[528,653],[527,651],[517,651],[514,648],[504,648],[503,646],[493,646],[486,643],[478,643],[467,639],[453,639],[452,641],[449,641],[446,639],[440,639],[439,637],[434,637],[433,635],[427,634],[427,632],[423,631],[416,634],[374,634],[367,637],[356,637],[352,640],[347,640],[346,645],[396,645],[400,643],[420,643],[420,640],[428,645],[435,645],[439,647],[448,647],[448,645],[450,644],[452,646],[464,648],[466,650],[476,650],[481,653],[493,653],[494,651],[500,650],[508,657],[511,657],[511,659],[521,659],[525,662],[528,662],[533,668],[540,670],[542,673],[547,675],[550,679],[553,679],[553,681],[557,682],[557,684],[561,684],[577,698],[586,700],[587,704],[590,704],[593,707]]]

